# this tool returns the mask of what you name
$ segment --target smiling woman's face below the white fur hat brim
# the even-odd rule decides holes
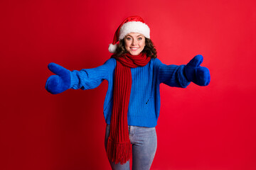
[[[145,47],[145,38],[140,33],[129,33],[124,38],[124,46],[131,55],[139,55]]]

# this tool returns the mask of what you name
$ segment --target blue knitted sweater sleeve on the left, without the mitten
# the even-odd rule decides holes
[[[71,89],[95,89],[103,80],[111,79],[111,73],[114,71],[115,60],[107,60],[100,67],[92,69],[73,70],[71,72]]]

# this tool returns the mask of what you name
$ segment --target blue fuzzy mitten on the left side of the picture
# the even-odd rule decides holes
[[[70,89],[71,79],[70,71],[58,64],[51,62],[48,69],[56,75],[50,76],[46,81],[46,90],[50,94],[60,94]]]

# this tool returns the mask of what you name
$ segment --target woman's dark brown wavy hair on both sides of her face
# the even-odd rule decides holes
[[[146,53],[146,55],[148,57],[151,57],[151,58],[157,57],[156,48],[155,48],[153,42],[149,38],[145,38],[145,47],[142,50],[142,52]],[[117,45],[117,50],[115,52],[115,55],[117,57],[120,57],[121,55],[124,55],[125,53],[127,53],[127,50],[125,49],[125,46],[124,46],[124,39],[122,39],[119,41],[119,44]]]

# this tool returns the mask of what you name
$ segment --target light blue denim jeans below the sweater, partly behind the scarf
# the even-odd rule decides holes
[[[128,126],[129,140],[132,143],[132,170],[149,170],[156,154],[156,128]],[[106,126],[105,149],[110,135],[110,125]],[[129,161],[125,164],[110,162],[114,170],[129,170]]]

